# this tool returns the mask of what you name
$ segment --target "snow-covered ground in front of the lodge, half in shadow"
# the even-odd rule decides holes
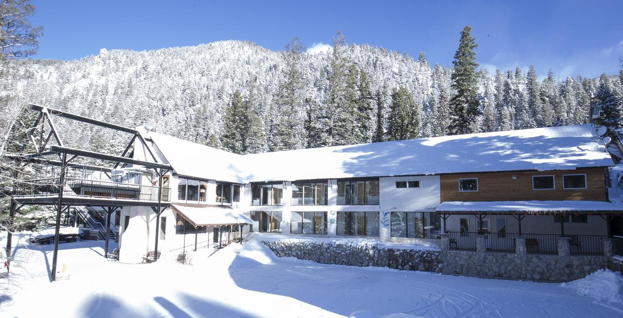
[[[618,295],[583,295],[590,295],[600,279],[621,278],[608,272],[578,287],[276,258],[255,239],[209,258],[207,251],[196,253],[193,266],[169,260],[105,261],[103,241],[59,246],[59,269],[65,264],[66,279],[49,283],[45,264],[51,263],[52,246],[17,245],[17,259],[25,268],[14,266],[14,274],[0,278],[0,316],[340,317],[356,311],[368,311],[358,317],[371,312],[422,317],[623,315],[623,303],[607,302],[621,299],[620,288]],[[609,290],[616,291],[616,284]]]

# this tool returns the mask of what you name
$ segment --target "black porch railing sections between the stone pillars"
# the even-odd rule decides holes
[[[449,231],[450,250],[475,251],[477,232]],[[515,252],[515,241],[519,233],[484,233],[487,251]],[[522,233],[526,239],[526,251],[531,254],[558,254],[559,234]],[[603,235],[565,235],[569,238],[571,255],[601,255],[603,252]],[[614,244],[613,244],[614,245]],[[614,246],[613,246],[614,247]],[[623,253],[623,240],[621,240]]]

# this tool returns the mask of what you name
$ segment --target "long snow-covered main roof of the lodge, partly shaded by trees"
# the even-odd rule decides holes
[[[240,156],[151,133],[178,174],[230,182],[612,166],[591,125],[298,149]]]

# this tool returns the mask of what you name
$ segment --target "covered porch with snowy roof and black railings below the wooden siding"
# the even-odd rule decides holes
[[[571,255],[603,255],[612,219],[623,204],[598,201],[443,202],[437,207],[451,250],[477,250],[484,236],[487,251],[514,252],[524,238],[526,251],[558,254],[559,238]]]

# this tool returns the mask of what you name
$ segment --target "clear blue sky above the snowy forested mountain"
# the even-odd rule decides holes
[[[298,36],[426,52],[450,65],[460,30],[472,26],[477,60],[490,70],[527,69],[559,78],[619,72],[623,1],[45,1],[32,23],[44,26],[40,58],[72,60],[101,48],[151,50],[249,40],[272,50]]]

